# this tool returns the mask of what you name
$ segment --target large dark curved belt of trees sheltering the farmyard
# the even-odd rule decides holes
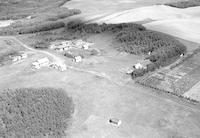
[[[165,66],[173,58],[186,52],[186,47],[173,37],[147,30],[144,26],[134,23],[99,25],[73,21],[67,24],[67,30],[80,34],[112,32],[116,41],[121,43],[120,50],[130,54],[148,55],[147,53],[150,52],[151,54],[146,58],[152,63],[148,65],[147,70],[136,70],[133,76],[141,76],[148,71]]]

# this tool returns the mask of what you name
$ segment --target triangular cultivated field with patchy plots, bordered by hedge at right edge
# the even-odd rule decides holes
[[[174,95],[199,101],[200,54],[197,53],[175,68],[164,68],[138,80],[139,83]]]

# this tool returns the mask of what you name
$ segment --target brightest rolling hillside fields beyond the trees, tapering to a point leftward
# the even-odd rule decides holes
[[[178,9],[154,5],[118,12],[93,22],[127,23],[144,20],[152,20],[144,24],[148,29],[200,43],[200,7]]]

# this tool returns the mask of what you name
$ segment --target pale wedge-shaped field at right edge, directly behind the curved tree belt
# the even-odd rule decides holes
[[[161,20],[147,23],[144,26],[151,30],[200,43],[200,18]]]

